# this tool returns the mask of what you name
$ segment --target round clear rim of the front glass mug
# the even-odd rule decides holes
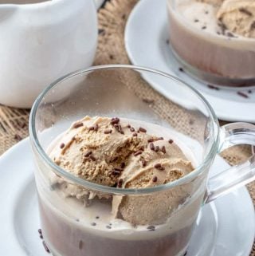
[[[76,77],[77,75],[80,75],[80,74],[90,73],[95,70],[103,70],[103,69],[104,70],[106,70],[106,69],[131,69],[134,71],[136,70],[136,71],[154,73],[156,75],[167,77],[171,81],[175,81],[177,83],[181,83],[182,85],[185,85],[191,91],[193,91],[193,93],[196,94],[196,96],[198,96],[198,99],[202,101],[204,106],[206,106],[206,110],[208,111],[208,113],[210,115],[210,120],[213,120],[214,124],[216,124],[216,125],[213,125],[214,141],[213,141],[213,144],[211,145],[210,151],[206,154],[202,163],[200,163],[198,165],[198,167],[196,167],[194,169],[194,171],[191,171],[188,175],[183,176],[181,179],[176,179],[175,181],[173,181],[171,183],[166,183],[166,184],[155,186],[155,187],[119,188],[119,187],[108,187],[108,186],[100,185],[98,183],[92,183],[85,179],[81,179],[77,176],[70,174],[68,171],[65,171],[65,169],[59,167],[56,163],[53,162],[53,160],[51,160],[49,158],[48,154],[42,148],[42,146],[38,140],[37,131],[35,128],[37,109],[41,104],[41,100],[43,100],[44,96],[47,95],[47,93],[51,89],[53,89],[55,86],[59,85],[61,82],[66,81],[72,77]],[[159,93],[159,94],[161,94],[161,93]],[[210,106],[210,104],[204,98],[204,96],[202,96],[201,93],[199,93],[196,89],[192,88],[190,85],[179,80],[179,78],[177,78],[177,77],[171,76],[170,74],[164,73],[164,72],[156,70],[156,69],[150,69],[150,68],[145,68],[145,67],[136,66],[136,65],[96,65],[96,66],[92,66],[88,69],[79,69],[77,71],[74,71],[72,73],[65,75],[64,77],[60,77],[59,79],[54,81],[52,84],[50,84],[48,87],[46,87],[41,92],[41,94],[34,101],[33,107],[31,109],[31,113],[29,116],[29,137],[30,137],[31,144],[34,146],[38,155],[41,156],[42,160],[44,160],[45,163],[47,163],[49,165],[49,167],[53,168],[53,171],[56,172],[58,175],[61,175],[62,177],[72,181],[73,183],[76,183],[77,185],[80,185],[81,187],[86,187],[87,189],[91,189],[92,191],[100,191],[100,193],[104,193],[104,194],[143,195],[143,194],[152,194],[152,193],[159,192],[159,191],[167,191],[167,190],[171,189],[172,187],[176,187],[183,183],[187,183],[187,181],[189,181],[190,179],[194,179],[195,177],[200,175],[204,171],[204,167],[206,167],[206,165],[209,165],[211,160],[214,160],[214,156],[218,152],[219,124],[218,124],[218,118],[215,115],[213,108]]]

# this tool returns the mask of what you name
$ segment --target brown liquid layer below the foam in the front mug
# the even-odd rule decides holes
[[[185,253],[194,226],[155,239],[121,240],[85,232],[59,218],[40,199],[39,207],[43,235],[56,256],[175,256],[180,248]]]

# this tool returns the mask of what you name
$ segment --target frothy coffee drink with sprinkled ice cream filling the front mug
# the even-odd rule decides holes
[[[70,175],[95,185],[156,189],[194,171],[196,161],[184,143],[155,124],[86,116],[58,136],[48,154]],[[203,190],[194,193],[189,183],[153,194],[115,195],[50,171],[46,176],[37,190],[42,230],[54,255],[185,254]]]

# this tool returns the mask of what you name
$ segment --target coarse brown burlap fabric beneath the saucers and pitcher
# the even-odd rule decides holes
[[[128,14],[138,0],[112,0],[106,2],[104,8],[98,13],[99,20],[99,43],[96,53],[95,65],[103,64],[129,64],[128,55],[124,47],[124,28]],[[127,77],[127,85],[136,95],[143,99],[159,100],[160,104],[155,105],[155,112],[162,112],[166,109],[164,104],[171,104],[160,99],[159,94],[140,81],[138,77]],[[187,117],[182,108],[171,104],[173,116],[176,113],[182,116],[182,126],[189,128],[190,116]],[[167,111],[169,111],[167,109]],[[171,116],[171,113],[169,116]],[[8,148],[28,136],[29,110],[8,108],[0,105],[0,155]],[[221,124],[225,124],[221,122]],[[251,155],[249,146],[237,146],[222,152],[222,156],[231,164],[241,163]],[[255,203],[255,183],[250,183],[249,192]],[[251,255],[255,256],[255,246]]]

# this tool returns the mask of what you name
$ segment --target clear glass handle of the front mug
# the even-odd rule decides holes
[[[222,126],[218,152],[237,144],[255,145],[255,125],[233,123]],[[219,196],[226,195],[253,180],[255,180],[255,155],[245,163],[212,176],[208,181],[204,203],[210,203]]]

